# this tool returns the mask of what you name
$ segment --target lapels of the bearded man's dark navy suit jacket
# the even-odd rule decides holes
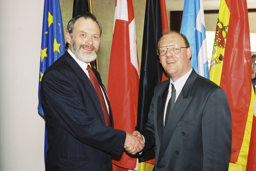
[[[103,111],[102,111],[102,107],[101,107],[98,95],[97,95],[90,79],[85,74],[83,69],[79,66],[79,64],[73,59],[73,57],[67,51],[65,53],[65,60],[72,67],[72,69],[76,73],[77,77],[84,82],[84,85],[85,85],[84,88],[87,90],[88,94],[91,96],[91,98],[92,98],[92,100],[93,100],[93,102],[94,102],[94,104],[95,104],[95,106],[96,106],[96,108],[99,112],[99,115],[101,117],[102,122],[105,123],[105,118],[104,118],[104,114],[103,114]],[[95,74],[95,75],[97,75],[97,74]],[[97,77],[97,79],[99,80],[98,77]],[[101,80],[99,80],[99,82],[101,84]],[[105,94],[105,97],[107,98],[106,94]]]

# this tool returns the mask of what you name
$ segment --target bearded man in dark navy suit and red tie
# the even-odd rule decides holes
[[[111,171],[111,154],[139,152],[144,141],[113,129],[112,112],[100,74],[90,62],[99,53],[102,27],[85,12],[67,26],[64,55],[44,73],[40,99],[49,148],[46,170]]]

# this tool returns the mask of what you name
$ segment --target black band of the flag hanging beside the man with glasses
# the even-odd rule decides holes
[[[148,121],[148,113],[154,89],[162,81],[163,68],[157,55],[157,43],[162,36],[161,8],[159,0],[147,0],[141,57],[141,74],[138,98],[136,130],[140,131]],[[155,158],[155,149],[147,151],[139,162]],[[154,164],[154,163],[152,163]]]

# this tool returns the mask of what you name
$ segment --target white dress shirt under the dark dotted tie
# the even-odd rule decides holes
[[[185,75],[183,75],[182,77],[180,77],[176,81],[173,82],[172,79],[170,78],[169,92],[168,92],[168,96],[167,96],[167,99],[166,99],[166,102],[165,102],[165,108],[164,108],[164,121],[165,121],[167,105],[168,105],[169,99],[172,96],[172,85],[171,85],[171,83],[173,83],[174,88],[176,90],[176,97],[175,97],[175,102],[176,102],[176,100],[179,97],[179,94],[180,94],[180,92],[181,92],[181,90],[182,90],[182,88],[183,88],[185,82],[187,81],[187,78],[188,78],[188,76],[190,75],[191,72],[192,72],[192,67]]]

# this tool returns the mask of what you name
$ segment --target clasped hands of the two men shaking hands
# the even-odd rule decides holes
[[[144,146],[143,136],[139,131],[134,131],[133,134],[126,132],[124,148],[128,153],[135,155],[142,151]]]

